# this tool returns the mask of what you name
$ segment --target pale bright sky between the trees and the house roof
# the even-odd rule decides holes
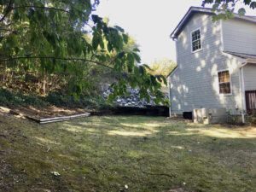
[[[140,45],[142,63],[163,58],[176,61],[175,42],[169,37],[190,6],[202,0],[102,0],[93,14],[108,17],[110,26],[121,26]],[[241,5],[239,5],[240,7]],[[256,16],[256,10],[247,9]]]

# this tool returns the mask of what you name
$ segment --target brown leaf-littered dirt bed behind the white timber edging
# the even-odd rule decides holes
[[[34,108],[32,106],[27,107],[10,107],[10,108],[0,108],[0,113],[9,113],[9,109],[15,113],[26,114],[35,119],[45,119],[45,118],[55,118],[70,116],[75,114],[88,113],[83,108],[57,108],[55,106],[49,106],[46,108]],[[12,111],[10,113],[12,113]]]

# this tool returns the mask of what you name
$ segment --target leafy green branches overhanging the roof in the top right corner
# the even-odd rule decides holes
[[[224,14],[220,14],[214,17],[215,20],[218,20],[232,18],[234,16],[234,10],[239,3],[248,6],[250,9],[256,8],[256,2],[253,0],[203,0],[202,6],[211,4],[213,10],[218,10],[218,12],[224,12]],[[245,13],[246,10],[244,8],[238,9],[239,15],[245,15]]]

